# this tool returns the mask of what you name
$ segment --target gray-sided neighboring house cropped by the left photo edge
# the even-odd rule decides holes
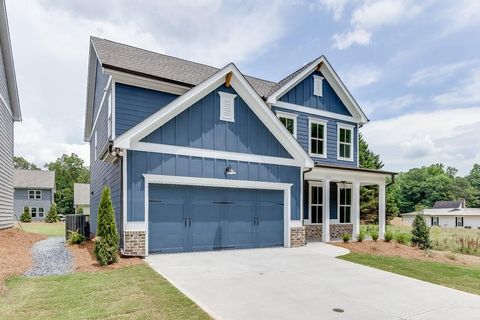
[[[13,123],[21,121],[5,1],[0,1],[0,229],[13,226]]]

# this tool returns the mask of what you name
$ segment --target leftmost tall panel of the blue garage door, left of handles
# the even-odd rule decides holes
[[[184,203],[150,202],[148,243],[150,251],[184,251]]]

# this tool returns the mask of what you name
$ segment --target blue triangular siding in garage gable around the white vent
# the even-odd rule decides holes
[[[220,120],[220,86],[142,141],[218,151],[292,158],[245,101],[235,98],[235,122]]]

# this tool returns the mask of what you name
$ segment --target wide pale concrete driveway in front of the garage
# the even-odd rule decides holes
[[[343,253],[310,243],[147,262],[216,319],[480,319],[480,296],[334,258]]]

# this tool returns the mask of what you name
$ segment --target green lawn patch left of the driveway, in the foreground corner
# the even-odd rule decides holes
[[[147,265],[7,280],[2,319],[210,319]]]

